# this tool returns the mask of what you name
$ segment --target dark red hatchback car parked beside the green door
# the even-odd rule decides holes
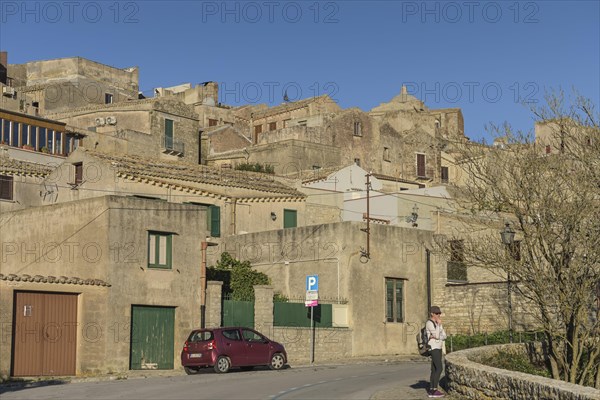
[[[213,367],[218,373],[235,367],[252,369],[257,365],[281,369],[286,362],[287,353],[282,344],[242,327],[194,330],[181,351],[181,365],[188,375],[207,367]]]

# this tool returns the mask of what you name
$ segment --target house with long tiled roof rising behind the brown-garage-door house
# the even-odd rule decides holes
[[[208,207],[215,238],[305,225],[305,195],[273,176],[79,148],[54,171],[43,204],[109,194]]]

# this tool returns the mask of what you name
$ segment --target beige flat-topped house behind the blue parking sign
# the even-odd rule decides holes
[[[427,318],[428,271],[441,268],[428,256],[433,235],[374,225],[367,260],[361,257],[363,227],[348,221],[230,236],[209,263],[226,249],[267,274],[273,289],[292,302],[303,302],[306,276],[317,274],[320,301],[332,303],[332,318],[341,321],[326,337],[317,334],[322,341],[317,359],[336,358],[338,349],[344,357],[415,353],[415,335]],[[301,329],[290,328],[293,336],[280,327],[261,329],[289,346],[291,356],[308,354],[308,341],[290,339],[304,338]],[[328,340],[331,344],[324,345]]]

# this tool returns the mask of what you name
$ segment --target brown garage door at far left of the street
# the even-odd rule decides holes
[[[75,375],[77,294],[16,292],[13,376]]]

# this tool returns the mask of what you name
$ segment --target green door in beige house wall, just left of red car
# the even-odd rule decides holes
[[[131,307],[130,369],[173,369],[175,308]]]

